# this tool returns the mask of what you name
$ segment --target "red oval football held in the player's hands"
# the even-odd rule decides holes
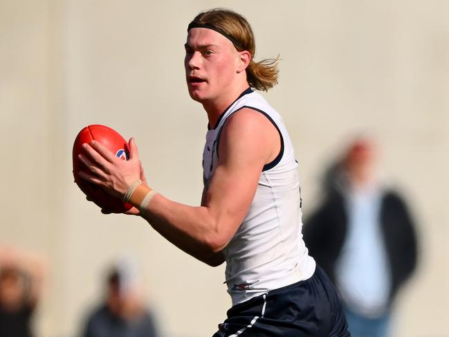
[[[73,176],[75,177],[75,183],[89,199],[101,208],[113,213],[125,212],[132,207],[129,203],[124,203],[122,200],[112,197],[102,190],[102,188],[78,176],[78,172],[84,170],[84,165],[78,159],[78,154],[85,154],[82,145],[84,143],[91,143],[92,140],[97,140],[102,143],[102,145],[110,149],[113,154],[124,161],[127,161],[129,158],[128,143],[117,131],[104,125],[89,125],[84,127],[76,136],[75,142],[73,143]]]

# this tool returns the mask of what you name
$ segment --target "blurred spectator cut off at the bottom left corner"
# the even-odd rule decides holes
[[[0,246],[0,336],[35,337],[33,313],[42,293],[44,259]]]

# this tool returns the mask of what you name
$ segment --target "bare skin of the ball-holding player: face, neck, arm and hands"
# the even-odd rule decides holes
[[[192,28],[185,44],[185,75],[192,99],[203,104],[209,124],[234,102],[249,84],[248,51],[237,51],[223,35],[207,28]],[[79,172],[114,197],[145,181],[134,138],[130,158],[122,161],[99,142],[84,144],[79,156],[86,170]],[[262,167],[280,151],[280,136],[273,124],[253,109],[241,109],[226,121],[221,133],[219,160],[201,206],[187,206],[156,194],[145,214],[131,208],[127,213],[144,217],[165,239],[197,259],[217,266],[221,250],[244,220],[257,190]],[[134,205],[138,206],[138,205]],[[102,210],[107,212],[107,210]]]

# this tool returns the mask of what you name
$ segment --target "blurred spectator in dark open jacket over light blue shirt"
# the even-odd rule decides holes
[[[309,253],[336,284],[353,337],[390,336],[394,298],[416,268],[414,221],[377,163],[374,139],[356,138],[329,168],[324,200],[304,221]]]

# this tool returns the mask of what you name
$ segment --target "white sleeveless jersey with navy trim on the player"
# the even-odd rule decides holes
[[[232,305],[306,280],[315,271],[315,261],[302,240],[300,180],[293,146],[281,116],[259,93],[244,91],[215,129],[208,130],[203,152],[205,188],[217,165],[221,129],[232,113],[244,107],[263,113],[273,122],[282,148],[277,158],[264,166],[248,214],[223,249]]]

